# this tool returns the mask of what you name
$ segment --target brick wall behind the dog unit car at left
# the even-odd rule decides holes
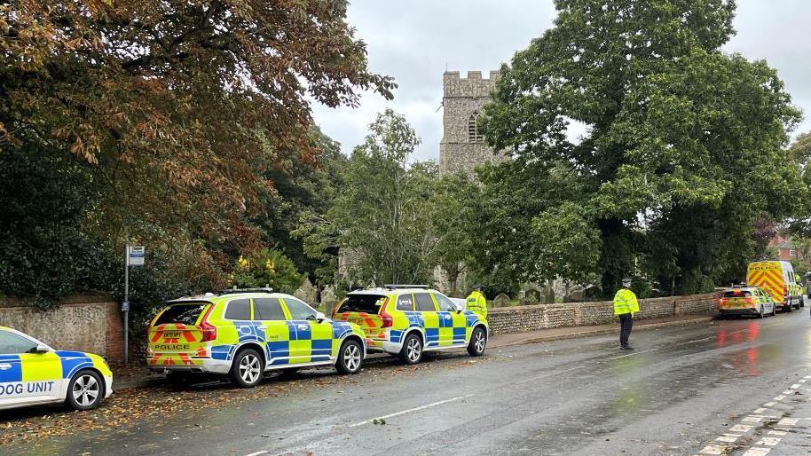
[[[59,309],[37,311],[13,298],[0,299],[0,326],[29,334],[57,350],[96,353],[109,360],[123,358],[123,324],[109,295],[77,295]]]

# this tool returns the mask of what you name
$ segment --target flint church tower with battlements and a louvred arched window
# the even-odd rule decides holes
[[[440,174],[463,173],[472,177],[479,164],[504,160],[492,153],[477,128],[477,116],[482,114],[484,104],[490,100],[499,76],[498,71],[491,71],[490,79],[482,79],[480,71],[468,71],[467,78],[461,78],[458,71],[446,71],[442,75]]]

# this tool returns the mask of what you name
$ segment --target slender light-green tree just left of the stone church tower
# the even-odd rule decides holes
[[[312,256],[339,248],[352,282],[382,285],[427,281],[435,264],[427,201],[434,163],[409,165],[420,144],[405,117],[390,109],[355,147],[343,188],[326,216],[305,216],[295,233]]]

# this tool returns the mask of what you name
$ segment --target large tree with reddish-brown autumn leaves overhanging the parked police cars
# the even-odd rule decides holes
[[[165,277],[177,284],[167,293],[221,286],[240,252],[295,249],[280,233],[289,224],[263,233],[257,218],[266,210],[286,216],[276,209],[287,199],[297,206],[294,187],[303,185],[284,182],[277,191],[274,184],[288,171],[319,173],[319,148],[332,147],[311,135],[311,102],[356,106],[361,90],[391,97],[391,79],[366,69],[366,45],[347,24],[346,7],[342,0],[2,4],[0,153],[20,166],[52,167],[32,179],[67,176],[60,173],[72,169],[64,162],[71,156],[81,165],[76,192],[93,199],[69,222],[104,252],[100,263],[114,265],[123,244],[137,240],[167,259],[161,264],[173,273]],[[73,175],[65,180],[72,193]],[[60,183],[38,184],[59,195]],[[35,200],[5,191],[0,199],[36,209]],[[19,233],[54,239],[60,228],[40,223]],[[26,256],[49,257],[34,237],[17,240]],[[77,267],[98,265],[98,256]],[[28,267],[2,266],[15,270],[6,277]],[[48,271],[39,268],[43,276],[28,284],[49,279]],[[209,279],[198,279],[203,271]],[[59,277],[60,289],[91,287]],[[117,287],[107,279],[94,286]]]

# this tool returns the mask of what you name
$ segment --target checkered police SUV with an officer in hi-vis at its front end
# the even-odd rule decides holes
[[[397,355],[406,364],[419,363],[429,350],[467,348],[471,356],[481,356],[489,336],[484,317],[424,285],[352,291],[334,318],[361,326],[370,352]]]

